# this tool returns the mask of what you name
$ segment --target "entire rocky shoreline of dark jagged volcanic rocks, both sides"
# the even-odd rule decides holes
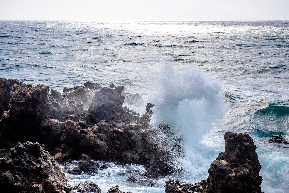
[[[43,84],[33,87],[1,78],[0,189],[101,192],[92,181],[67,185],[57,162],[73,159],[80,159],[71,171],[75,174],[98,169],[90,159],[142,164],[147,168],[144,175],[151,178],[177,172],[171,163],[173,156],[182,154],[181,139],[166,125],[151,127],[153,104],[147,104],[144,115],[123,107],[123,90],[86,82],[59,93]],[[138,94],[127,98],[143,102]],[[166,139],[169,150],[158,143],[159,136]],[[249,135],[227,132],[225,152],[212,162],[208,179],[195,185],[170,180],[166,192],[259,193],[261,165],[255,149]],[[122,193],[118,186],[108,192]]]

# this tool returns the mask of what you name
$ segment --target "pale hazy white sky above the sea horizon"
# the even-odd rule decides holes
[[[289,0],[0,0],[0,20],[289,20]]]

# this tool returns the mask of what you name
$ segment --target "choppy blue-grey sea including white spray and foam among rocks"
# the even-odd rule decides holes
[[[289,146],[267,141],[289,140],[289,21],[0,21],[0,77],[58,91],[89,80],[138,92],[156,104],[152,122],[184,138],[185,172],[172,176],[188,182],[208,176],[225,131],[248,133],[262,190],[288,192]],[[164,192],[166,178],[153,187],[128,184],[123,172],[141,166],[111,164],[106,174],[68,175],[70,183],[90,178],[103,192],[114,184]]]

